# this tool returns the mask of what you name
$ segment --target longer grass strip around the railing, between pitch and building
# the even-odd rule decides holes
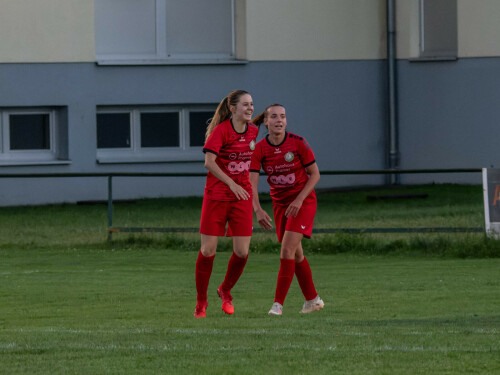
[[[369,195],[427,195],[425,199],[369,200]],[[262,197],[271,213],[271,202]],[[266,199],[267,198],[267,199]],[[144,199],[114,205],[115,226],[198,227],[201,198]],[[418,228],[472,227],[484,225],[482,188],[468,185],[424,185],[397,189],[335,191],[318,194],[315,228]],[[258,227],[258,223],[254,223]],[[2,248],[176,248],[199,246],[197,233],[114,234],[106,244],[105,205],[51,205],[0,208]],[[253,252],[279,252],[273,232],[255,234]],[[221,240],[219,251],[231,251],[231,241]],[[318,234],[304,241],[315,253],[406,253],[452,257],[498,257],[500,241],[483,233],[432,234]]]

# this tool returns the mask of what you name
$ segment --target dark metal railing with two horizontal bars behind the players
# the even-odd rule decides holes
[[[321,171],[321,175],[389,175],[389,174],[434,174],[434,173],[480,173],[482,168],[453,169],[377,169],[377,170],[332,170]],[[0,173],[0,178],[71,178],[105,177],[108,180],[108,241],[113,233],[197,233],[199,228],[153,228],[153,227],[114,227],[113,226],[113,177],[206,177],[206,172],[160,173],[160,172],[111,172],[111,173]],[[261,175],[265,175],[261,173]],[[254,228],[255,233],[274,233]],[[421,228],[315,228],[313,233],[471,233],[484,232],[483,227],[421,227]]]

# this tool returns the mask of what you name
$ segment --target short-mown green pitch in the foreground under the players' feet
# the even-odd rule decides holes
[[[301,315],[294,281],[268,316],[279,260],[252,254],[233,290],[196,320],[196,252],[1,250],[0,368],[6,374],[494,374],[500,259],[312,255],[325,308]]]

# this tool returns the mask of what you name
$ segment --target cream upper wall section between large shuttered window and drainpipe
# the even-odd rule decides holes
[[[385,58],[385,0],[247,0],[250,61]]]

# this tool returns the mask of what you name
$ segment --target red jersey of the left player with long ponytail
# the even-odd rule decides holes
[[[250,123],[247,123],[243,133],[238,133],[234,130],[231,120],[226,120],[214,128],[203,147],[203,152],[217,155],[215,161],[220,169],[250,195],[252,195],[252,185],[248,178],[248,170],[258,133],[259,128]],[[205,197],[218,201],[238,200],[229,186],[210,172],[205,184]]]

